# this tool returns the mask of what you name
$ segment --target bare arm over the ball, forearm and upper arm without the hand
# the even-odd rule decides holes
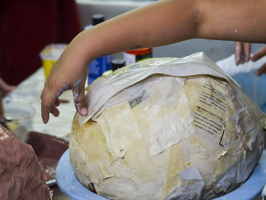
[[[80,62],[89,63],[193,38],[263,43],[265,9],[263,0],[160,0],[81,32],[69,46]]]

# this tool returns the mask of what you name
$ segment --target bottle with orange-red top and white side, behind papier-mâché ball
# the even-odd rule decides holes
[[[151,58],[152,48],[127,51],[123,53],[123,57],[126,60],[126,65],[133,64],[135,62]]]

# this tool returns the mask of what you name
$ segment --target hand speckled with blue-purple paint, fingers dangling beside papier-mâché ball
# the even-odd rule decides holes
[[[71,43],[69,44],[69,46]],[[58,97],[66,90],[73,91],[74,104],[82,116],[88,114],[85,102],[85,82],[88,74],[87,61],[76,59],[73,47],[67,47],[53,66],[41,94],[41,116],[43,123],[49,120],[49,114],[59,115],[56,108],[60,105]],[[80,56],[80,55],[79,55]],[[77,61],[78,60],[78,61]]]

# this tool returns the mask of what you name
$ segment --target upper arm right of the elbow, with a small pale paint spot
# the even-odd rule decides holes
[[[199,38],[266,43],[265,0],[202,0]]]

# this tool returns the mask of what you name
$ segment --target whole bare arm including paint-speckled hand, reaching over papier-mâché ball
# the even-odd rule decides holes
[[[265,0],[160,0],[81,32],[45,83],[44,123],[49,113],[59,115],[57,99],[66,89],[72,89],[78,113],[87,114],[84,86],[93,59],[193,38],[264,43],[265,10]]]

